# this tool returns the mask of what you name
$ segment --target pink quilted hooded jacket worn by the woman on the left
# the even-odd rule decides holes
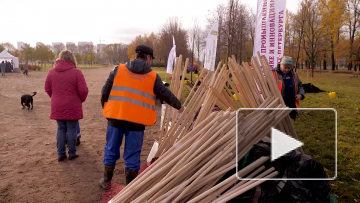
[[[74,64],[57,60],[46,78],[45,91],[51,98],[51,119],[83,118],[82,103],[86,100],[89,89],[84,75]]]

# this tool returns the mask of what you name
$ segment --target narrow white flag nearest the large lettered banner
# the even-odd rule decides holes
[[[219,23],[215,22],[209,31],[208,37],[206,38],[204,68],[211,71],[215,70],[218,29]]]

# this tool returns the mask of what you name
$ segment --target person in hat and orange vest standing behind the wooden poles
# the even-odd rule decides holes
[[[294,71],[293,59],[284,56],[280,64],[272,71],[285,105],[289,108],[299,108],[299,101],[305,98],[305,90],[299,76]],[[297,115],[298,111],[296,110],[290,112],[293,120]]]

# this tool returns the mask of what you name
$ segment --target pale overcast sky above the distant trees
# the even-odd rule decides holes
[[[257,0],[240,0],[256,11]],[[203,28],[209,11],[228,0],[1,0],[0,42],[17,48],[23,41],[92,41],[130,43],[137,35],[158,32],[169,18],[177,17],[183,27],[195,19]],[[287,0],[297,10],[298,0]]]

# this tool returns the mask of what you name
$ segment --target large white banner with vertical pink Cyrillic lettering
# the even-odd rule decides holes
[[[253,55],[265,56],[276,68],[284,55],[286,0],[258,0]]]

